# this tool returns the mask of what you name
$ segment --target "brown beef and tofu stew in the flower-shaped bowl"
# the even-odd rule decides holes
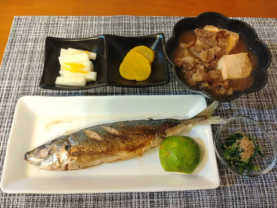
[[[206,25],[184,32],[178,41],[171,58],[188,85],[216,96],[229,96],[252,86],[257,58],[238,33]]]

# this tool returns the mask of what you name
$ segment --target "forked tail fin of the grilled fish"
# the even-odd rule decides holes
[[[201,120],[198,123],[198,125],[204,125],[204,124],[222,124],[222,123],[225,123],[226,122],[225,119],[220,118],[219,116],[211,116],[212,114],[214,114],[215,109],[218,107],[218,105],[219,105],[219,102],[215,101],[211,105],[206,107],[203,111],[201,111],[199,114],[194,116],[193,118],[203,117],[203,116],[206,117],[206,119]]]

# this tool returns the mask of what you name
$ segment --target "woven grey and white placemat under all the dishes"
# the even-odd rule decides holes
[[[85,38],[101,34],[144,36],[164,33],[166,40],[173,25],[182,17],[142,16],[16,16],[0,70],[0,172],[18,99],[25,95],[156,95],[193,94],[182,88],[169,66],[170,83],[152,88],[100,87],[82,91],[53,91],[39,88],[46,36]],[[258,120],[277,138],[277,19],[237,18],[250,24],[272,52],[269,80],[261,91],[221,103],[217,114],[229,118],[238,114]],[[207,100],[211,103],[211,100]],[[213,125],[215,134],[218,126]],[[111,193],[111,194],[5,194],[1,207],[276,207],[277,168],[258,178],[231,174],[218,164],[220,187],[214,190]],[[70,183],[70,181],[61,181]],[[93,184],[92,184],[93,185]]]

